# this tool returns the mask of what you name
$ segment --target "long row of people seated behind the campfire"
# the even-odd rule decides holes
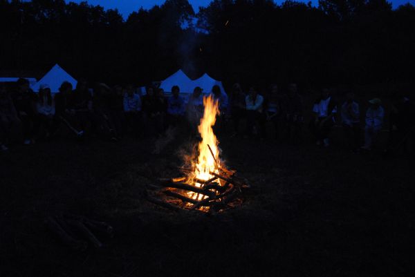
[[[76,88],[63,82],[59,93],[52,95],[48,84],[42,84],[39,93],[34,93],[28,80],[21,78],[13,89],[0,86],[1,151],[6,151],[12,142],[33,144],[62,133],[118,141],[124,136],[163,135],[169,126],[183,124],[196,133],[206,94],[200,87],[194,88],[188,97],[181,95],[179,86],[173,86],[171,91],[172,95],[167,97],[163,89],[149,86],[141,95],[132,84],[111,88],[99,83],[91,93],[86,80],[80,79]],[[297,84],[288,84],[284,90],[276,84],[268,89],[250,86],[246,90],[234,84],[226,103],[219,86],[213,86],[210,94],[219,102],[221,115],[215,125],[219,131],[228,128],[234,137],[263,140],[272,127],[277,140],[283,133],[288,142],[299,144],[304,140],[304,115],[308,111]],[[361,118],[354,96],[349,92],[343,102],[338,102],[331,90],[321,90],[320,97],[309,108],[309,131],[317,145],[329,146],[333,126],[342,126],[348,149],[372,149],[385,128],[385,108],[379,98],[371,99],[365,117]],[[414,109],[409,97],[396,97],[390,115],[387,149],[403,140],[413,142]]]

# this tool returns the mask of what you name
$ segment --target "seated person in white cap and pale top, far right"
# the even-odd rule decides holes
[[[369,100],[369,108],[366,111],[365,118],[365,145],[362,149],[370,151],[380,129],[383,126],[385,110],[381,106],[382,101],[379,98]]]

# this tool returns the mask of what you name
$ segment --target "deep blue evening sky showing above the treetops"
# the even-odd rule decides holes
[[[73,1],[79,3],[83,0],[66,0],[67,2]],[[104,8],[118,8],[118,10],[122,13],[124,18],[127,18],[128,15],[138,10],[140,7],[149,9],[154,5],[161,5],[164,3],[165,0],[86,0],[91,5],[100,5]],[[302,0],[299,0],[302,1]],[[415,5],[415,0],[389,0],[392,2],[393,8],[398,8],[398,6],[405,4],[405,3],[412,3]],[[210,0],[189,0],[189,2],[193,5],[194,11],[197,12],[199,10],[199,6],[207,6],[210,3]],[[275,0],[275,3],[282,3],[283,0]],[[304,1],[308,2],[308,0]],[[313,4],[317,5],[318,0],[312,0]]]

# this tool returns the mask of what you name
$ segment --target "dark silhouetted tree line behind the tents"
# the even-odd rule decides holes
[[[123,19],[64,0],[0,0],[1,69],[61,64],[77,77],[148,84],[183,68],[228,83],[407,82],[415,8],[385,0],[167,0]]]

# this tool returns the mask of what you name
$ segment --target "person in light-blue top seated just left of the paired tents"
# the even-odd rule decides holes
[[[144,97],[143,97],[144,98]],[[127,133],[136,136],[141,132],[141,108],[140,95],[134,93],[133,85],[128,84],[124,93],[124,117]]]

